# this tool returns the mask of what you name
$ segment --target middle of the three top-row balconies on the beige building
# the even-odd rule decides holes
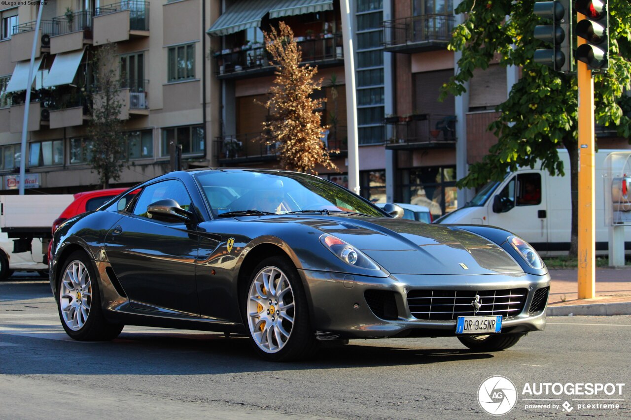
[[[52,18],[50,54],[80,50],[92,43],[92,13],[77,11]]]

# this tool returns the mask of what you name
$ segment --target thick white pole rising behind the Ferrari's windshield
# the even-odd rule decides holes
[[[344,45],[344,74],[346,78],[346,124],[348,125],[348,189],[359,194],[359,153],[357,133],[357,95],[355,90],[355,53],[351,0],[339,0],[342,12],[342,43]]]

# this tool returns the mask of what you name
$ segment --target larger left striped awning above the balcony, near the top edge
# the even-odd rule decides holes
[[[272,0],[237,1],[219,16],[206,33],[213,37],[220,37],[248,28],[257,28],[261,26],[261,19],[268,14],[274,3],[277,2]]]

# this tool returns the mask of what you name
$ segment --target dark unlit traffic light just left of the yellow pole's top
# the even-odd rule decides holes
[[[536,50],[534,62],[545,64],[562,73],[574,71],[570,0],[537,1],[534,3],[534,14],[551,21],[551,25],[535,26],[534,37],[552,44],[551,49]]]

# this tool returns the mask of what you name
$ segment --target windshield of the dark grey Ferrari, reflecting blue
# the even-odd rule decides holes
[[[356,213],[384,214],[332,182],[304,173],[222,170],[194,175],[213,212],[225,214]]]

